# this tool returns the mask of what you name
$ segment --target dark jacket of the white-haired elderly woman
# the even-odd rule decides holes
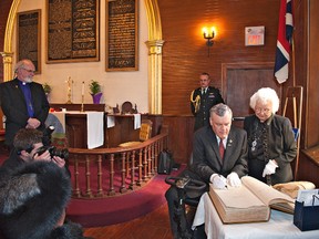
[[[267,122],[267,144],[268,158],[258,158],[254,156],[251,152],[253,142],[256,139],[256,128],[258,127],[259,118],[256,115],[247,116],[244,121],[244,128],[247,132],[248,137],[248,163],[249,175],[266,181],[263,178],[263,172],[268,159],[276,159],[278,168],[276,173],[271,175],[271,184],[280,184],[292,180],[292,172],[290,163],[295,159],[297,154],[297,144],[289,118],[279,115],[272,115]],[[258,146],[258,145],[257,145]]]

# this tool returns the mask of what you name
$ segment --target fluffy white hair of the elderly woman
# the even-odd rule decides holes
[[[275,114],[279,110],[279,97],[274,89],[263,87],[259,89],[250,97],[250,107],[255,111],[256,103],[260,101],[261,104],[267,104],[267,102],[272,103],[272,113]]]

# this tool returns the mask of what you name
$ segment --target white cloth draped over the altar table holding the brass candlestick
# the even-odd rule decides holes
[[[55,115],[60,123],[65,128],[65,114],[85,114],[86,115],[86,128],[88,128],[88,148],[100,147],[104,144],[104,112],[52,112],[50,114]]]

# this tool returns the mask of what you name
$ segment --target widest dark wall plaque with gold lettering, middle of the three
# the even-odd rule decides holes
[[[100,60],[100,0],[47,0],[47,62]]]

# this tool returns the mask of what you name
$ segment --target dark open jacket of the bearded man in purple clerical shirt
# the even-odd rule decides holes
[[[41,84],[30,83],[31,101],[34,108],[34,117],[41,122],[40,131],[44,129],[44,122],[49,113],[49,102]],[[19,80],[13,79],[0,84],[0,103],[6,115],[6,144],[11,146],[16,133],[25,127],[29,119],[28,108]]]

